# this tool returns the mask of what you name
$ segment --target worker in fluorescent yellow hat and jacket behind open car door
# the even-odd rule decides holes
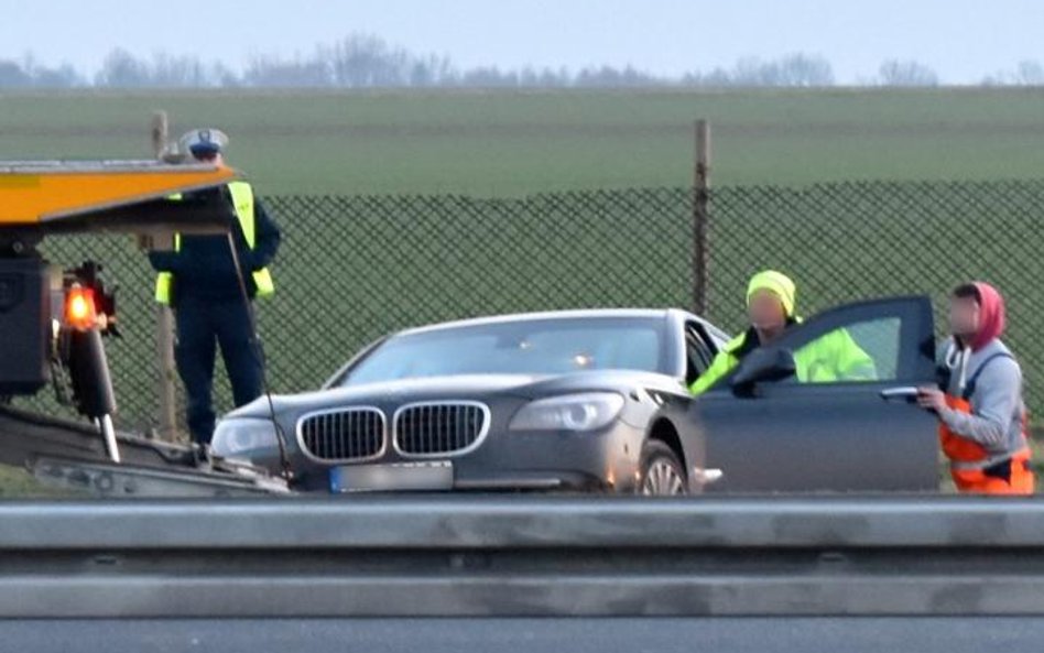
[[[730,340],[710,367],[689,387],[702,394],[728,376],[748,353],[776,340],[797,317],[797,286],[781,272],[759,272],[747,287],[750,328]],[[797,380],[803,383],[867,381],[877,378],[873,359],[845,329],[820,336],[794,352]]]

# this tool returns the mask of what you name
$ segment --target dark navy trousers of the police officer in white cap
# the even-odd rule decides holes
[[[261,396],[263,359],[253,339],[251,307],[240,300],[178,298],[174,359],[188,395],[188,431],[193,442],[209,444],[214,435],[214,359],[217,346],[237,406]]]

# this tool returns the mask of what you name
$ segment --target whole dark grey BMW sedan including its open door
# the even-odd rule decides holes
[[[837,329],[873,374],[805,383],[803,347]],[[728,336],[678,309],[510,315],[409,329],[315,392],[225,416],[213,454],[300,490],[925,490],[933,422],[927,298],[853,304],[792,327],[705,394]]]

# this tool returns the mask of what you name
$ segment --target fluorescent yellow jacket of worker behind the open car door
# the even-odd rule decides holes
[[[703,394],[740,362],[740,351],[747,345],[750,331],[729,340],[718,352],[710,367],[689,385],[693,394]],[[873,381],[877,366],[851,335],[840,328],[820,336],[794,351],[797,380],[802,383],[833,381]]]

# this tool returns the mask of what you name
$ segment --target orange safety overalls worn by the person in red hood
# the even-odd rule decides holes
[[[1005,355],[998,355],[1005,356]],[[991,359],[987,359],[965,391],[966,396],[946,395],[946,405],[960,413],[971,414],[968,401],[976,378]],[[1026,435],[1026,416],[1022,416],[1022,433]],[[1034,490],[1033,470],[1030,467],[1030,448],[1024,447],[1014,454],[990,455],[979,443],[958,435],[944,423],[939,423],[939,444],[949,458],[949,474],[960,492],[977,494],[1032,494]]]

